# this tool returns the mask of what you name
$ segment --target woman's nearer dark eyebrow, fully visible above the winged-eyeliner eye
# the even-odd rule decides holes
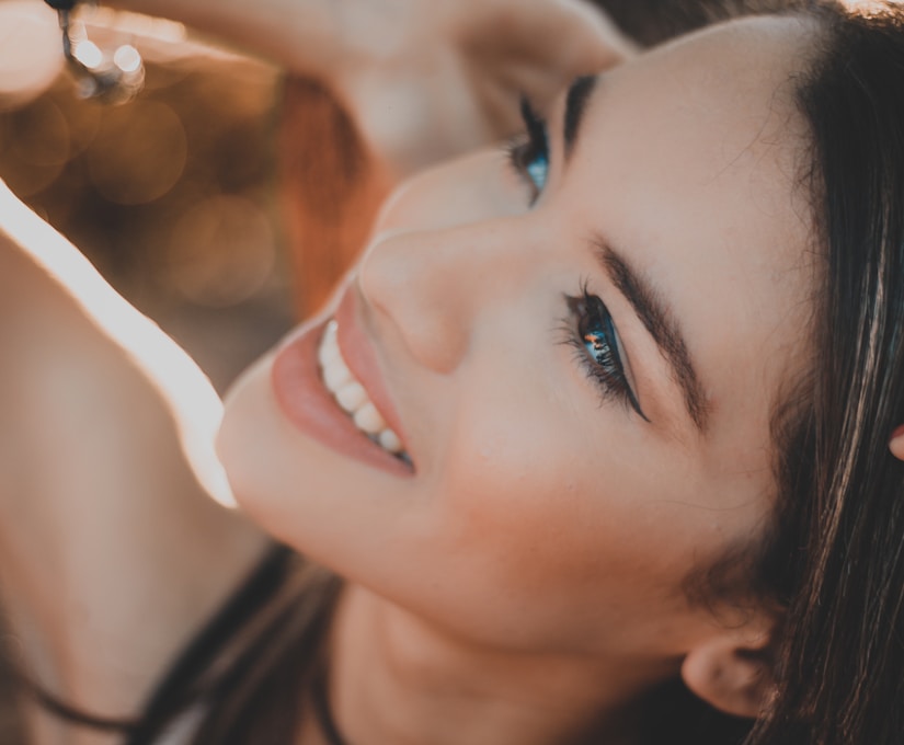
[[[709,404],[690,362],[687,344],[672,312],[643,275],[634,272],[605,240],[595,238],[593,245],[604,271],[631,303],[641,323],[671,365],[675,381],[684,392],[685,408],[691,421],[701,434],[706,433]]]

